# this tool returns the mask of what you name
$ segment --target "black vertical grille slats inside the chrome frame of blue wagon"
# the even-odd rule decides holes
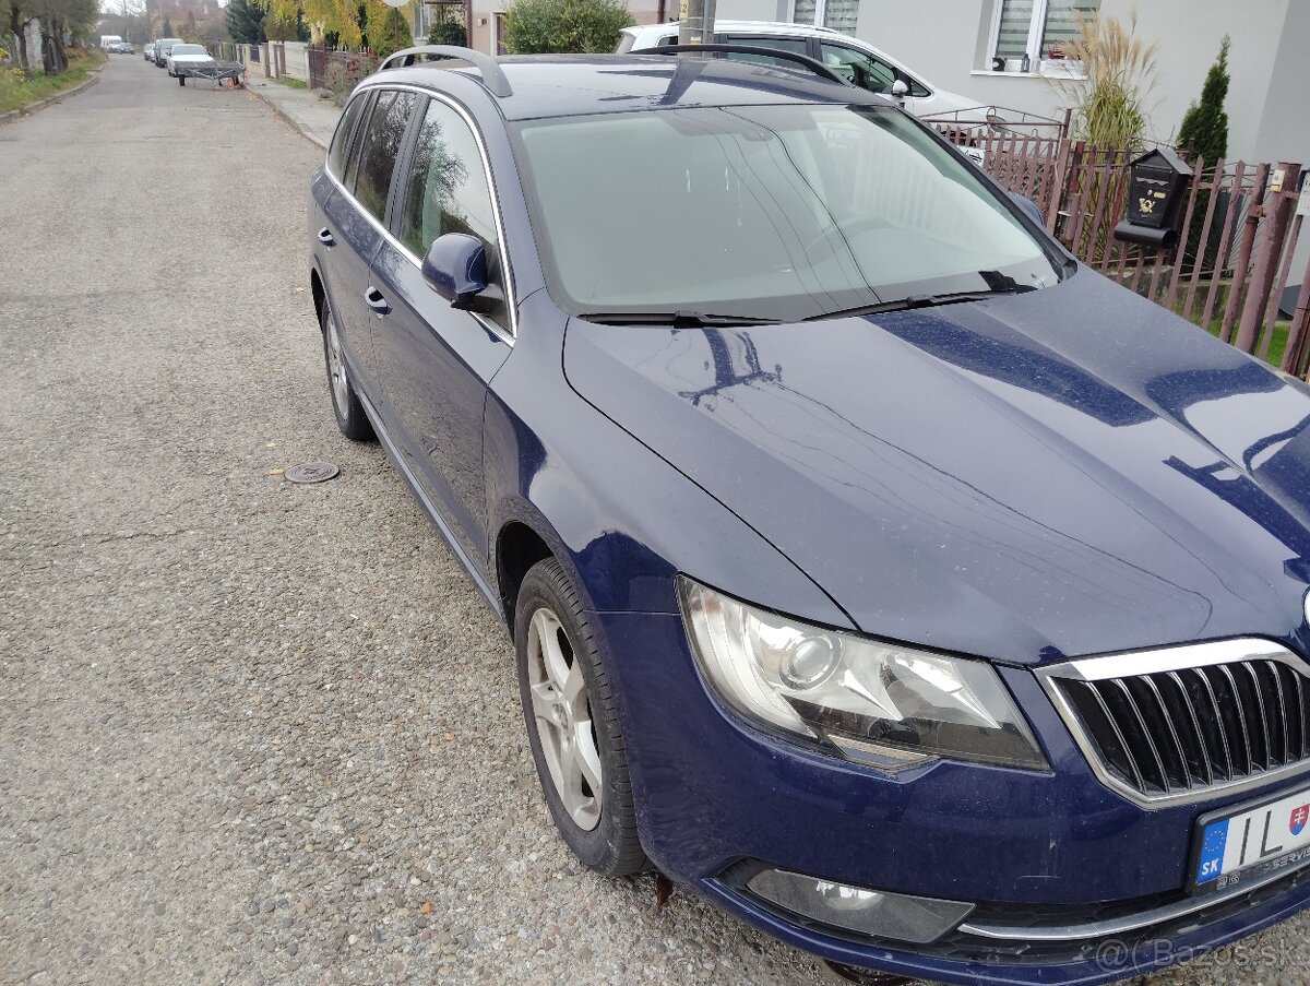
[[[1148,799],[1310,760],[1310,677],[1250,658],[1093,680],[1052,678],[1104,770]]]

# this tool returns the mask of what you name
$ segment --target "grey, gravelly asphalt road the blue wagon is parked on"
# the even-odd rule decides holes
[[[320,156],[140,58],[0,126],[0,982],[817,982],[554,835],[507,636],[337,433]]]

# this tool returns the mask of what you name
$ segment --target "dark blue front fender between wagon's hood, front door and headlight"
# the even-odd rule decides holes
[[[569,387],[566,317],[545,291],[493,380],[483,421],[490,570],[507,523],[561,559],[593,611],[677,612],[685,572],[752,602],[827,625],[845,612],[723,503]]]

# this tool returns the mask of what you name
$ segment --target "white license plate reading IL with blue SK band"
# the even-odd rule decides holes
[[[1310,787],[1225,808],[1196,822],[1192,892],[1252,885],[1310,863]]]

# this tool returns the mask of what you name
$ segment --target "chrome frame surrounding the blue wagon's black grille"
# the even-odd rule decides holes
[[[1310,602],[1307,602],[1310,608]],[[1297,674],[1310,678],[1310,663],[1288,650],[1281,644],[1260,637],[1238,637],[1216,640],[1207,644],[1183,644],[1179,646],[1136,650],[1124,654],[1104,654],[1102,657],[1082,657],[1048,667],[1034,670],[1047,698],[1056,707],[1060,719],[1073,734],[1087,766],[1096,779],[1142,808],[1172,808],[1176,805],[1212,801],[1217,797],[1254,791],[1279,780],[1288,780],[1310,772],[1310,759],[1289,763],[1272,771],[1263,771],[1239,780],[1213,784],[1192,791],[1178,791],[1167,795],[1145,795],[1112,775],[1100,760],[1096,746],[1082,728],[1078,715],[1057,686],[1058,679],[1076,682],[1099,682],[1110,678],[1133,678],[1163,671],[1180,671],[1189,667],[1209,667],[1235,661],[1276,661],[1286,665]]]

